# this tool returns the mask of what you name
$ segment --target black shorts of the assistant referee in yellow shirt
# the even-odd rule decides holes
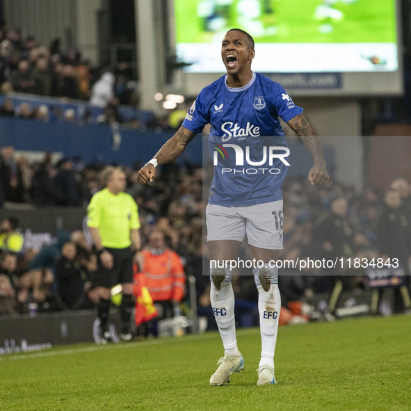
[[[131,248],[105,248],[114,257],[113,268],[111,270],[105,268],[102,260],[97,256],[97,271],[92,278],[93,284],[111,288],[115,284],[133,282],[133,252],[131,252]]]

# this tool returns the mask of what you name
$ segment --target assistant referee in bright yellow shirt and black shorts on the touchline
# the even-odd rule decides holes
[[[99,290],[98,316],[101,322],[101,344],[110,339],[108,317],[111,287],[122,284],[120,339],[130,341],[133,296],[133,255],[140,250],[138,206],[131,195],[124,193],[126,175],[120,167],[108,166],[102,180],[105,188],[95,193],[87,208],[87,225],[97,251],[95,284]]]

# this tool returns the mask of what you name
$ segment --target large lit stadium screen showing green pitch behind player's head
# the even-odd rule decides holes
[[[257,72],[398,70],[395,0],[174,0],[174,8],[186,72],[222,72],[219,45],[234,27],[255,38]]]

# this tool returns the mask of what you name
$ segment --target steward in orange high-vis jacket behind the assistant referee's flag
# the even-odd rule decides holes
[[[152,232],[149,246],[140,252],[139,263],[154,302],[182,300],[186,282],[183,264],[177,252],[166,247],[162,232]]]

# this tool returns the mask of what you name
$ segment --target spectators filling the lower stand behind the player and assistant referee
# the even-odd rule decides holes
[[[6,200],[33,202],[39,206],[79,207],[85,207],[92,194],[99,190],[105,166],[85,165],[81,159],[61,159],[54,165],[49,155],[41,163],[29,164],[15,160],[13,147],[2,148],[0,165]],[[163,232],[168,246],[182,257],[186,275],[196,277],[199,313],[209,316],[212,323],[209,278],[203,275],[209,265],[202,220],[205,169],[168,164],[159,169],[156,180],[149,186],[138,184],[131,168],[125,171],[127,191],[139,207],[143,244],[147,244],[153,229]],[[309,185],[305,179],[290,177],[283,193],[287,207],[284,207],[282,259],[371,259],[383,255],[398,257],[405,273],[409,273],[411,188],[405,180],[394,180],[387,191],[368,186],[362,193],[356,193],[344,184],[334,182],[319,188]],[[16,221],[13,217],[10,220],[12,231],[18,233]],[[3,224],[1,231],[6,231]],[[90,283],[90,272],[95,270],[96,257],[83,232],[60,233],[57,243],[47,245],[37,255],[33,250],[26,250],[24,245],[13,250],[3,243],[1,248],[2,314],[29,312],[31,303],[36,303],[40,311],[94,305],[97,296]],[[245,251],[241,252],[242,257],[250,258]],[[330,293],[336,280],[332,275],[335,273],[320,268],[303,271],[284,268],[282,273],[293,274],[280,275],[284,306],[305,301],[316,293]],[[345,274],[344,288],[366,287],[364,269],[352,267]],[[234,277],[239,310],[250,312],[257,307],[253,281],[250,275]],[[401,309],[403,307],[398,311]]]

